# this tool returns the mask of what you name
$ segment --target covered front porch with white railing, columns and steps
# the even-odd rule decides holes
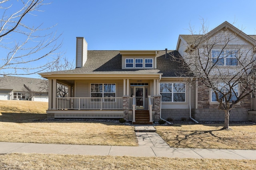
[[[100,118],[139,120],[139,110],[148,114],[142,119],[152,124],[160,116],[160,74],[131,78],[49,78],[48,118]],[[130,75],[131,76],[131,75]],[[57,95],[58,84],[65,85],[65,97]],[[145,114],[144,113],[144,114]],[[136,116],[137,115],[137,116]],[[141,117],[140,117],[141,118]],[[143,117],[142,117],[143,118]]]

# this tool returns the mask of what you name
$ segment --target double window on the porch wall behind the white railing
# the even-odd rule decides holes
[[[91,84],[91,97],[116,97],[116,84]]]

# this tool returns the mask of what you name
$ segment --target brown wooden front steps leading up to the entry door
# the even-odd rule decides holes
[[[152,125],[153,122],[149,121],[149,111],[148,110],[135,110],[135,122],[133,125]]]

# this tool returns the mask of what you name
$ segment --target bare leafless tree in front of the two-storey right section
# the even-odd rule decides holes
[[[256,41],[229,23],[218,29],[208,32],[203,23],[195,34],[190,27],[184,56],[175,60],[190,69],[180,74],[193,75],[198,86],[210,89],[209,102],[218,102],[218,109],[224,110],[223,129],[229,129],[230,110],[255,89]]]

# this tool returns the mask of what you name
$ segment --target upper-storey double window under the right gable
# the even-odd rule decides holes
[[[238,50],[212,50],[212,63],[218,66],[237,66]]]

